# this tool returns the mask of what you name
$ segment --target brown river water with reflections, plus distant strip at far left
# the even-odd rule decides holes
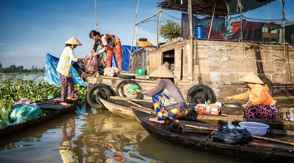
[[[9,76],[0,76],[0,80]],[[34,79],[31,76],[13,76]],[[40,77],[42,79],[42,77]],[[38,79],[38,80],[40,80]],[[79,106],[0,140],[0,162],[240,162],[185,150],[149,135],[137,120]]]

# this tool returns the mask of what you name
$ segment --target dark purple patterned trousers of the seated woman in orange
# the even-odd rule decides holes
[[[275,118],[277,115],[277,105],[256,105],[245,109],[245,116],[247,118]]]

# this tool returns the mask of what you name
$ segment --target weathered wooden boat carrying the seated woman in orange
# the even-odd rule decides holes
[[[142,106],[145,106],[146,108],[150,108],[150,110],[142,109],[138,106],[134,106],[131,103],[128,103],[120,98],[117,98],[115,96],[111,96],[111,99],[114,100],[114,102],[109,102],[103,99],[100,99],[101,103],[108,108],[109,111],[112,113],[124,117],[124,118],[130,118],[135,119],[135,115],[132,112],[133,108],[139,109],[141,111],[144,111],[146,113],[154,113],[153,111],[153,103],[152,101],[146,101],[146,100],[136,100],[133,99],[132,102],[138,103]],[[130,99],[128,99],[130,100]],[[289,111],[285,108],[278,108],[278,112],[286,112]],[[234,118],[234,117],[226,117],[226,116],[212,116],[212,115],[198,115],[195,111],[191,111],[187,116],[187,120],[196,121],[196,122],[203,122],[203,123],[213,123],[213,124],[228,124],[228,121],[232,121],[234,124],[238,124],[239,122],[259,122],[259,123],[265,123],[270,126],[270,129],[274,129],[273,132],[282,132],[283,130],[287,131],[287,134],[294,135],[294,121],[286,121],[286,120],[276,120],[276,119],[251,119],[251,118]],[[270,130],[269,130],[270,131]],[[291,132],[292,131],[292,132]]]

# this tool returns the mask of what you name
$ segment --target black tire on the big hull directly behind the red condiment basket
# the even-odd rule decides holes
[[[189,103],[197,103],[195,102],[195,99],[194,99],[194,96],[196,95],[196,92],[198,91],[203,91],[206,96],[207,96],[207,100],[209,100],[211,103],[213,103],[213,92],[212,92],[212,89],[207,86],[207,85],[202,85],[202,89],[199,85],[195,85],[195,86],[192,86],[189,90],[188,90],[188,93],[187,93],[187,100]],[[207,101],[206,100],[206,101]],[[201,101],[204,103],[204,101]]]

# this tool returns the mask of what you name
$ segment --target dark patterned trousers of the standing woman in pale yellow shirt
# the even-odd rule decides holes
[[[66,101],[68,93],[69,97],[74,97],[74,79],[72,77],[66,77],[59,73],[61,82],[61,100]]]

